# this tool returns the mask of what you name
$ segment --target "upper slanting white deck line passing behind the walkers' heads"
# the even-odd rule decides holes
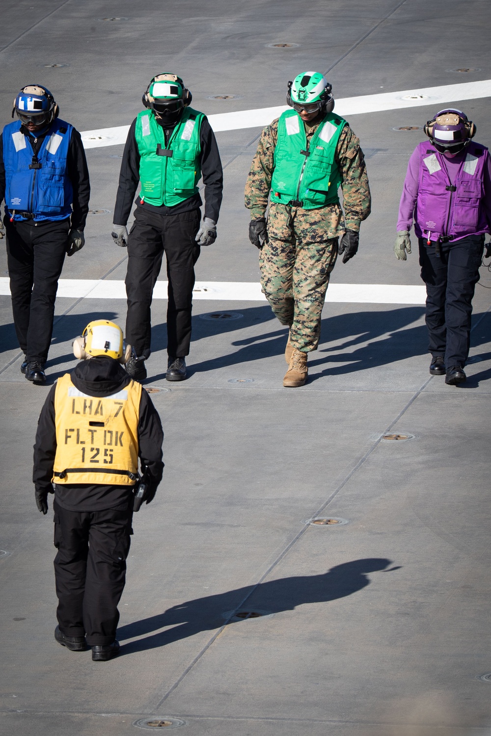
[[[380,113],[383,110],[399,110],[403,108],[434,106],[436,113],[442,105],[449,102],[459,102],[465,99],[480,99],[491,96],[491,79],[481,82],[462,82],[458,85],[442,85],[439,87],[424,87],[420,89],[402,90],[399,92],[383,92],[367,94],[358,97],[336,99],[336,113],[342,116],[360,115],[361,113]],[[289,108],[261,107],[257,110],[239,110],[236,113],[219,113],[208,116],[211,127],[215,132],[222,130],[241,130],[241,128],[264,127],[278,118]],[[410,120],[415,124],[417,121]],[[84,130],[82,141],[84,148],[100,148],[102,146],[116,146],[126,141],[129,125],[113,128],[99,128],[99,130]]]

